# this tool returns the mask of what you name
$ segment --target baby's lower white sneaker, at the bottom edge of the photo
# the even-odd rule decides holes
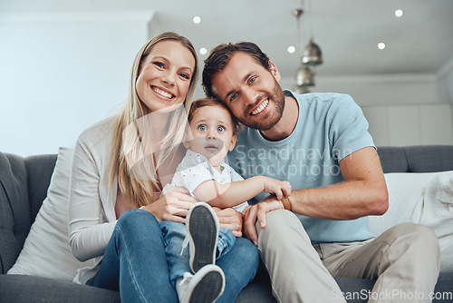
[[[217,265],[209,264],[195,275],[186,272],[176,282],[180,303],[212,303],[225,289],[225,275]]]

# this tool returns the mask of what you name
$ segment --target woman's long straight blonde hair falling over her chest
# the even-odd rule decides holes
[[[195,68],[184,107],[169,113],[168,132],[160,141],[159,151],[150,151],[145,142],[152,138],[149,109],[137,93],[137,78],[143,64],[154,46],[161,41],[177,41],[185,46],[195,59]],[[197,52],[188,39],[179,34],[167,32],[158,34],[140,49],[132,64],[130,94],[124,109],[116,116],[113,126],[111,150],[111,186],[118,182],[119,190],[131,208],[148,205],[154,201],[154,191],[161,191],[158,170],[166,160],[171,160],[178,151],[187,125],[188,110],[198,80]],[[148,127],[147,127],[148,126]],[[142,142],[145,141],[145,142]],[[149,144],[150,142],[146,142]],[[165,149],[165,151],[164,151]]]

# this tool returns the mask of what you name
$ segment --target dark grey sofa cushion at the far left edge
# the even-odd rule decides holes
[[[0,152],[0,272],[6,273],[30,230],[27,172],[20,156]]]

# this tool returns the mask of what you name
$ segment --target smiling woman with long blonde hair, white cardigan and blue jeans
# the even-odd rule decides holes
[[[158,222],[184,222],[196,200],[183,189],[162,196],[160,191],[185,150],[180,142],[197,72],[188,39],[157,35],[135,59],[123,111],[79,137],[69,195],[70,244],[77,259],[95,258],[96,265],[80,269],[74,281],[120,290],[124,302],[178,302]],[[236,210],[217,210],[217,216],[220,226],[240,236]],[[238,238],[217,261],[226,276],[217,301],[235,300],[255,276],[257,256],[251,242]]]

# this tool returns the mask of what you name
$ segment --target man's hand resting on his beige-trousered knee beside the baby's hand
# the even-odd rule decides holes
[[[258,220],[262,229],[265,228],[265,214],[272,210],[283,210],[283,204],[274,195],[259,201],[245,210],[244,235],[258,246],[258,234],[256,233],[255,222]]]

